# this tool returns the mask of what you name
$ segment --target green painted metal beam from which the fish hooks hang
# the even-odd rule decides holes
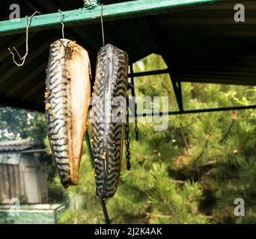
[[[199,4],[214,4],[227,2],[228,0],[136,0],[124,1],[118,4],[103,6],[104,21],[115,19],[147,16],[151,14],[167,13],[171,10],[180,10],[191,7],[198,7]],[[100,22],[101,7],[84,7],[77,10],[64,12],[63,22],[66,26],[89,24]],[[34,16],[31,19],[31,30],[40,31],[43,29],[60,28],[61,14],[49,13]],[[25,32],[25,18],[7,20],[0,22],[0,36]]]

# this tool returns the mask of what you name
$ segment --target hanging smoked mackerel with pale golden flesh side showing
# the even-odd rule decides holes
[[[46,75],[46,122],[52,158],[64,188],[79,183],[91,94],[88,52],[72,40],[52,43]]]

